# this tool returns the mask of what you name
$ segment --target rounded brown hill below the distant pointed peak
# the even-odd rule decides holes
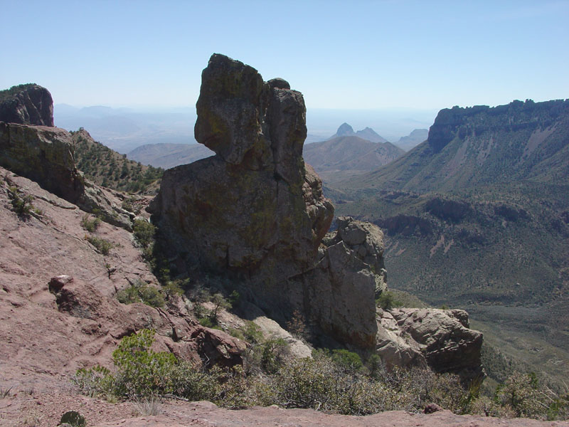
[[[344,136],[305,144],[304,160],[326,184],[373,171],[403,155],[403,149],[390,142],[370,142],[356,136]]]

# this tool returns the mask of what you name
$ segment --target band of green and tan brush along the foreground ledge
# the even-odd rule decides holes
[[[315,352],[312,359],[260,364],[259,371],[235,367],[209,371],[150,349],[154,332],[125,337],[113,352],[115,371],[79,369],[74,382],[83,393],[108,399],[176,396],[209,400],[230,408],[277,404],[285,408],[366,415],[380,411],[421,411],[435,403],[454,413],[496,413],[562,419],[569,415],[569,397],[541,388],[535,376],[515,375],[499,387],[494,399],[479,398],[479,383],[464,389],[452,374],[428,369],[385,369],[375,359],[364,366],[356,354]],[[267,340],[261,355],[282,343]],[[273,356],[276,353],[272,353]],[[270,359],[271,361],[272,359]],[[269,361],[269,362],[270,362]],[[265,361],[267,362],[267,361]]]

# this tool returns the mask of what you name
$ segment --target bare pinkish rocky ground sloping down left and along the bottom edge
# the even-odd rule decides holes
[[[110,366],[112,350],[133,328],[154,325],[164,331],[174,324],[184,326],[184,317],[174,315],[176,310],[116,302],[115,292],[134,280],[156,281],[134,247],[131,233],[101,223],[95,234],[115,244],[109,255],[102,255],[85,240],[87,231],[80,226],[85,212],[6,169],[0,168],[0,176],[0,426],[55,426],[69,410],[79,411],[93,427],[569,426],[567,422],[455,416],[449,411],[354,417],[276,407],[230,411],[208,402],[183,401],[162,401],[154,406],[157,415],[148,416],[144,404],[82,396],[70,381],[76,369],[97,363]],[[9,186],[31,194],[41,214],[19,218],[11,209]],[[114,269],[111,275],[105,265]],[[63,274],[73,278],[71,285],[65,285],[68,302],[73,297],[81,300],[66,309],[61,303],[58,307],[60,300],[48,288],[51,278]],[[199,328],[191,320],[184,322],[187,333]],[[224,344],[222,335],[208,337],[208,342],[218,339],[218,345],[232,344]],[[180,351],[165,332],[157,344]],[[186,356],[191,357],[195,348],[187,342],[186,347],[190,348]]]

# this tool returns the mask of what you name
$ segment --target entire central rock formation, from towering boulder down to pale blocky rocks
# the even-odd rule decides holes
[[[167,170],[149,209],[186,262],[241,283],[281,324],[299,311],[317,332],[395,364],[422,361],[443,370],[445,361],[456,362],[452,349],[477,341],[452,317],[441,320],[440,310],[422,313],[430,332],[438,333],[437,322],[446,328],[434,343],[408,339],[422,329],[405,321],[406,312],[386,312],[397,332],[384,333],[375,302],[386,288],[383,233],[342,217],[326,235],[334,208],[302,159],[304,100],[285,80],[264,82],[254,68],[216,54],[203,70],[196,107],[196,139],[216,155]],[[407,356],[391,357],[385,339],[405,344],[394,352]],[[479,367],[479,345],[469,349],[478,359],[466,364]]]

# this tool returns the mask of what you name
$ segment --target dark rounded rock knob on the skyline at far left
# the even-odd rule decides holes
[[[0,90],[0,122],[53,126],[51,94],[34,84]]]

